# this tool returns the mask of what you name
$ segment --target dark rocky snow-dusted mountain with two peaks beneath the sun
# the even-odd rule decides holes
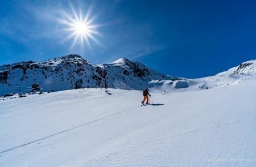
[[[105,86],[144,89],[151,80],[163,79],[176,78],[125,58],[110,64],[93,65],[80,55],[67,55],[43,62],[29,61],[0,66],[0,96],[13,92],[53,92]]]

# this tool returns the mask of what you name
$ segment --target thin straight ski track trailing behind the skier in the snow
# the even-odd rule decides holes
[[[106,118],[109,118],[109,117],[113,117],[114,115],[121,114],[121,113],[127,112],[128,110],[133,110],[133,109],[138,108],[138,107],[140,107],[140,106],[135,106],[134,108],[122,110],[121,112],[117,112],[117,113],[108,115],[108,116],[106,116],[106,117],[96,119],[96,120],[94,120],[94,121],[86,122],[86,123],[84,123],[84,124],[82,124],[82,125],[79,125],[79,126],[76,126],[76,127],[72,127],[71,129],[67,129],[67,130],[64,130],[64,131],[60,131],[60,132],[57,132],[56,134],[52,134],[52,135],[46,136],[46,137],[44,137],[44,138],[40,138],[40,139],[34,140],[34,141],[32,141],[32,142],[28,142],[28,143],[25,143],[25,144],[22,144],[22,145],[18,145],[18,146],[13,147],[13,148],[6,149],[5,151],[1,151],[0,153],[9,152],[9,151],[11,151],[11,150],[13,150],[13,149],[17,149],[17,148],[20,148],[20,147],[24,147],[24,146],[26,146],[26,145],[28,145],[28,144],[36,143],[36,142],[39,142],[39,141],[41,141],[41,140],[51,138],[51,137],[53,137],[53,136],[56,136],[56,135],[59,135],[59,134],[63,134],[64,132],[68,132],[68,131],[77,129],[77,128],[79,128],[79,127],[82,127],[82,126],[88,125],[88,124],[90,124],[90,123],[94,123],[94,122],[100,121],[100,120],[102,120],[102,119],[106,119]],[[0,157],[1,157],[1,156],[0,156]]]

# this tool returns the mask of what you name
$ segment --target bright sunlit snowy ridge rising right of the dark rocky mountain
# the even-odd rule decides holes
[[[179,80],[152,80],[150,84],[152,84],[152,89],[156,91],[180,92],[236,85],[255,77],[256,60],[252,60],[241,63],[241,65],[237,67],[230,68],[228,71],[221,72],[214,76],[198,79],[180,78]]]

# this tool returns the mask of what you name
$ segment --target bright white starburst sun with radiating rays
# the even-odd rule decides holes
[[[89,7],[85,15],[82,14],[82,10],[75,10],[72,6],[71,11],[72,12],[69,13],[63,12],[63,18],[60,19],[61,24],[64,25],[64,31],[69,33],[66,41],[73,39],[71,48],[77,44],[90,48],[92,42],[93,44],[102,46],[101,42],[96,38],[96,36],[100,35],[100,33],[97,32],[97,28],[100,27],[100,24],[93,24],[97,16],[91,16],[91,8]]]

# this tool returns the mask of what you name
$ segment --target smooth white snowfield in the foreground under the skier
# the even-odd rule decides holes
[[[0,101],[0,166],[256,166],[255,85]]]

